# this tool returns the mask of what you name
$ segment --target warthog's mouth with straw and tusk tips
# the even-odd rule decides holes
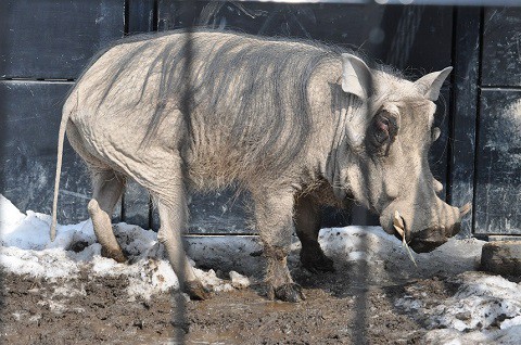
[[[459,208],[459,220],[467,215],[471,209],[471,204],[467,203]],[[410,246],[416,253],[429,253],[437,248],[440,245],[448,241],[448,238],[458,233],[461,225],[456,222],[447,233],[445,227],[433,227],[429,229],[421,230],[416,233],[411,233],[407,229],[404,218],[399,215],[398,212],[395,212],[393,226],[396,230],[396,238],[401,239],[404,244]]]

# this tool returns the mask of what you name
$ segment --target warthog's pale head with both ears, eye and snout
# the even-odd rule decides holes
[[[429,149],[440,136],[433,127],[434,101],[450,71],[412,82],[343,55],[342,89],[356,95],[358,110],[352,111],[346,128],[353,155],[340,179],[355,199],[380,215],[386,232],[405,235],[418,253],[434,250],[460,229],[462,215],[439,197],[443,184],[428,162]],[[344,112],[350,118],[350,110]],[[404,231],[393,226],[395,217],[401,217]]]

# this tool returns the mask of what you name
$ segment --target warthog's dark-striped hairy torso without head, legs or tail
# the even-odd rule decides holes
[[[136,157],[150,152],[143,148],[183,148],[192,171],[219,180],[280,171],[308,149],[319,125],[309,84],[332,62],[340,68],[338,52],[297,41],[216,31],[148,36],[101,54],[64,112],[76,107],[71,119],[91,151],[112,146]]]

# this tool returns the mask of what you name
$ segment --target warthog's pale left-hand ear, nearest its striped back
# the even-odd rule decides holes
[[[361,59],[344,53],[342,54],[342,90],[357,95],[365,101],[371,90],[371,69]]]

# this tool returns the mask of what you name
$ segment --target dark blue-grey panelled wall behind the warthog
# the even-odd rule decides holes
[[[236,29],[360,48],[411,77],[455,69],[439,102],[442,137],[431,156],[443,197],[473,203],[463,233],[521,234],[521,9],[164,0],[18,0],[0,3],[0,192],[21,209],[50,213],[61,106],[97,50],[137,33]],[[67,145],[59,217],[88,217],[87,171]],[[195,195],[191,232],[244,233],[243,197]],[[247,200],[247,199],[246,199]],[[130,182],[115,220],[156,227]],[[325,225],[371,223],[327,210]]]

